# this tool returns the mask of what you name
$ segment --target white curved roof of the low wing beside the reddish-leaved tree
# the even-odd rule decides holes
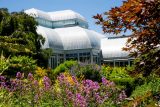
[[[122,48],[125,47],[126,42],[127,38],[102,39],[101,50],[103,59],[128,57],[129,53],[122,50]]]

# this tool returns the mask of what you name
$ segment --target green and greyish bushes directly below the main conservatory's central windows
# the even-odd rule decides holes
[[[96,64],[87,64],[77,61],[65,61],[53,70],[53,77],[63,72],[69,72],[81,79],[91,79],[93,81],[101,81],[101,68]]]

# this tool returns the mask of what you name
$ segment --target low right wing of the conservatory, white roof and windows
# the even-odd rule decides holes
[[[134,58],[129,57],[129,52],[122,51],[127,39],[127,37],[110,37],[102,39],[102,63],[109,66],[132,65]]]

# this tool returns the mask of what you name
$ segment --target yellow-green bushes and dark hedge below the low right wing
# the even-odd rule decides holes
[[[102,75],[107,79],[114,81],[116,85],[124,89],[127,96],[130,96],[132,91],[135,89],[136,84],[135,78],[131,77],[126,67],[102,67]]]

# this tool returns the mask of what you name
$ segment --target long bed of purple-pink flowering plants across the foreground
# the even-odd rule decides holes
[[[75,76],[63,73],[53,84],[49,77],[44,76],[39,81],[31,73],[26,78],[20,72],[15,79],[0,76],[0,106],[115,106],[125,98],[124,91],[105,78],[101,83],[89,79],[79,81]]]

